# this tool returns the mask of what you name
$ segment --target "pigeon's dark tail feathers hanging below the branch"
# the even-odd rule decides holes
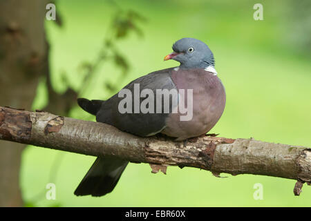
[[[115,157],[97,157],[75,190],[75,195],[102,196],[110,193],[128,163]]]

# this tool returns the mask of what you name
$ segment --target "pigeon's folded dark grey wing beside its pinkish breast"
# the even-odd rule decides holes
[[[173,68],[159,70],[155,73],[150,73],[149,75],[144,75],[138,79],[135,79],[130,84],[126,85],[120,91],[124,92],[125,90],[127,90],[128,92],[131,92],[131,95],[133,95],[131,97],[131,111],[122,113],[124,112],[124,107],[126,108],[127,106],[119,106],[119,104],[122,100],[124,102],[126,95],[124,95],[124,97],[119,97],[119,93],[117,93],[116,95],[102,103],[100,111],[98,111],[96,115],[97,122],[111,124],[112,126],[119,128],[121,131],[140,135],[142,137],[160,133],[160,131],[165,128],[165,120],[169,116],[169,113],[171,113],[173,108],[176,107],[176,103],[178,103],[176,102],[178,96],[173,96],[173,92],[176,92],[177,94],[177,88],[175,84],[173,84],[173,81],[171,79],[171,70],[173,70]],[[138,86],[140,91],[139,93],[135,93],[134,90],[136,88],[137,91]],[[153,92],[153,108],[151,105],[151,110],[153,110],[153,113],[151,113],[151,111],[150,113],[143,113],[142,109],[140,108],[140,104],[142,104],[144,99],[148,98],[150,101],[149,95],[147,95],[146,97],[140,97],[140,92],[142,92],[144,89],[150,89],[149,91]],[[167,107],[167,103],[164,103],[166,99],[165,96],[160,95],[157,97],[157,89],[160,89],[160,91],[164,93],[172,92],[172,94],[169,95],[169,102],[167,102],[169,103],[169,107]],[[166,92],[165,89],[167,89]],[[139,99],[139,103],[134,102],[137,97]],[[162,99],[162,101],[160,102],[159,99]],[[157,113],[157,104],[160,113]],[[160,104],[161,107],[159,107]],[[136,111],[139,111],[139,113],[134,113],[134,106],[136,106]],[[120,107],[123,108],[121,111]],[[150,106],[147,105],[146,107],[149,108]],[[165,108],[169,108],[169,111],[165,110]]]

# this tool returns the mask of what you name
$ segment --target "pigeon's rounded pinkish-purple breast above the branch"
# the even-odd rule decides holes
[[[187,91],[192,89],[192,118],[182,121],[180,115],[186,114],[181,114],[180,111],[171,113],[161,133],[178,137],[178,140],[185,140],[210,131],[223,114],[226,102],[225,88],[217,75],[201,68],[179,69],[172,70],[171,79],[178,90],[185,90],[186,108],[189,108],[186,99]]]

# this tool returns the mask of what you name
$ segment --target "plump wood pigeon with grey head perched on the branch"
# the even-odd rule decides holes
[[[169,111],[164,110],[165,104],[162,101],[158,103],[158,98],[162,95],[159,97],[155,95],[156,99],[153,99],[153,102],[151,99],[147,106],[149,108],[153,106],[156,111],[149,109],[147,113],[135,111],[133,100],[133,106],[131,104],[124,106],[129,111],[125,113],[124,110],[120,111],[120,102],[124,99],[120,93],[106,101],[79,98],[77,100],[79,106],[84,111],[96,115],[97,122],[110,124],[121,131],[142,137],[162,133],[176,137],[176,140],[187,140],[207,133],[223,114],[226,100],[225,88],[214,68],[214,55],[205,43],[193,38],[180,39],[172,48],[173,52],[164,57],[164,60],[179,61],[180,66],[149,73],[131,81],[120,90],[135,94],[139,86],[141,92],[148,91],[155,94],[165,89],[187,91],[183,96],[180,96],[182,93],[178,93],[177,98],[173,98],[172,94],[169,95]],[[188,95],[191,95],[190,100],[184,102],[184,106],[188,109],[191,106],[192,113],[189,119],[182,120],[181,117],[185,112],[178,111],[177,106],[182,103],[182,98],[189,98]],[[140,96],[139,102],[144,102],[149,96]],[[128,163],[115,157],[97,157],[75,190],[75,195],[102,196],[111,193]]]

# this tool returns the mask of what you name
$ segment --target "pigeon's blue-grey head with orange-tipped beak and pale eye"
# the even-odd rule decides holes
[[[180,62],[180,68],[207,68],[215,65],[214,55],[209,47],[198,39],[185,37],[173,44],[173,52],[164,61],[173,59]]]

